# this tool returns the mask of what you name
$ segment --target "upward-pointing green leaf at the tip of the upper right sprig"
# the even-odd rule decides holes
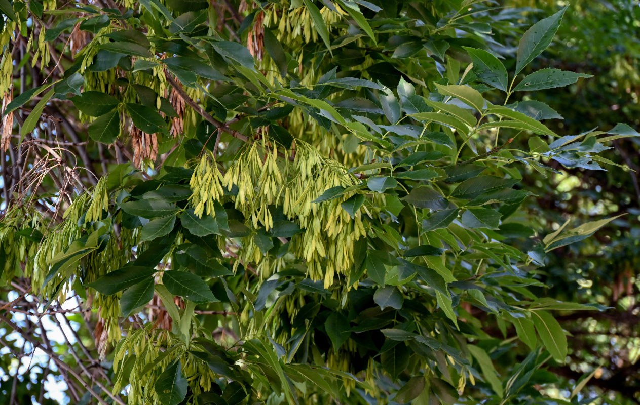
[[[564,6],[554,15],[536,22],[524,33],[516,53],[516,75],[551,44],[566,8],[567,6]]]

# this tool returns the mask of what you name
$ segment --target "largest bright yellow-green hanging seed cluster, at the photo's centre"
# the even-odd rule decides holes
[[[263,147],[257,142],[248,145],[223,177],[223,186],[230,191],[238,188],[235,198],[236,209],[252,221],[254,228],[273,227],[270,205],[281,205],[284,214],[296,221],[305,232],[292,237],[291,251],[299,251],[298,260],[307,262],[307,271],[314,280],[323,280],[328,287],[336,273],[346,273],[353,265],[353,243],[365,235],[360,208],[351,218],[340,203],[353,193],[341,198],[314,203],[326,189],[336,186],[349,187],[358,180],[345,175],[346,169],[333,159],[325,159],[316,148],[303,141],[296,142],[296,157],[291,163],[278,159],[277,148],[269,150],[263,138]],[[286,155],[286,154],[285,154]],[[196,179],[204,178],[202,171],[196,170]],[[200,182],[200,180],[196,180]],[[192,179],[192,182],[196,182]],[[214,185],[214,183],[211,183]],[[193,203],[198,205],[203,196],[219,195],[216,187],[203,192],[192,186]],[[202,209],[202,208],[200,208]],[[245,237],[238,256],[243,262],[260,263],[264,255],[255,244],[253,237]],[[278,267],[283,260],[276,262]],[[237,262],[236,262],[237,266]],[[273,269],[260,267],[264,278],[273,274]]]

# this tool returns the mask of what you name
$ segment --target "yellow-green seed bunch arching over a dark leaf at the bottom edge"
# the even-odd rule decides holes
[[[158,357],[175,344],[179,345],[158,361]],[[180,344],[180,340],[172,338],[169,331],[149,327],[130,330],[115,347],[113,370],[116,377],[113,381],[113,393],[119,393],[128,383],[129,405],[159,404],[153,387],[162,370],[177,359],[182,365],[182,374],[195,395],[211,389],[212,383],[216,382],[216,374],[205,361],[189,353],[186,345]],[[149,369],[148,365],[154,363],[154,367]]]

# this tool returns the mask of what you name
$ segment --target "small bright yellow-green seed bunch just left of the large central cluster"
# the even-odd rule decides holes
[[[189,202],[193,205],[196,216],[202,218],[204,212],[214,215],[214,202],[220,202],[224,195],[222,182],[223,176],[216,164],[216,157],[211,151],[206,150],[189,180],[193,192]]]

